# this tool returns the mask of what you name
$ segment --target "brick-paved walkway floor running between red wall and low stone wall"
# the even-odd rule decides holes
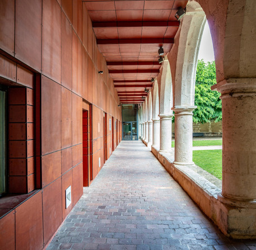
[[[122,141],[50,249],[256,249],[206,218],[141,141]]]

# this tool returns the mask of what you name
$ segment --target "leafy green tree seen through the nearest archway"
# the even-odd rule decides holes
[[[222,120],[220,93],[212,91],[211,86],[216,84],[215,62],[204,63],[198,60],[195,105],[193,122],[212,122]]]

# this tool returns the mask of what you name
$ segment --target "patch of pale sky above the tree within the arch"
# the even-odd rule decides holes
[[[215,60],[212,46],[212,37],[208,22],[206,22],[206,25],[204,26],[198,59],[203,59],[204,62],[212,62]]]

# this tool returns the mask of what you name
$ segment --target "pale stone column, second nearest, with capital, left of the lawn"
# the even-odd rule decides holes
[[[175,106],[174,164],[193,165],[193,110],[195,106]]]

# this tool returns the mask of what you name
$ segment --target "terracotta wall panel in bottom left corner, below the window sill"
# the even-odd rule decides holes
[[[0,232],[1,248],[15,250],[15,211],[0,220]]]

